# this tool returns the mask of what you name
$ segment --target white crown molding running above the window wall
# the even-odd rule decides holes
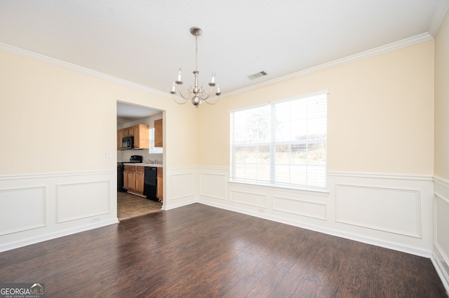
[[[281,76],[279,78],[274,78],[272,80],[267,80],[266,82],[262,82],[262,83],[259,83],[259,84],[256,84],[256,85],[251,85],[251,86],[248,86],[248,87],[244,87],[244,88],[241,88],[239,90],[235,90],[233,92],[227,92],[226,96],[246,93],[246,92],[249,92],[249,91],[253,91],[253,90],[259,89],[261,87],[267,87],[269,85],[274,85],[274,84],[277,84],[277,83],[285,82],[286,80],[291,80],[293,78],[299,78],[299,77],[302,77],[302,76],[307,76],[307,75],[309,75],[311,73],[324,71],[326,69],[332,69],[333,67],[336,67],[336,66],[341,66],[341,65],[348,64],[348,63],[351,63],[351,62],[356,62],[356,61],[359,61],[359,60],[362,60],[362,59],[367,59],[369,57],[382,55],[382,54],[387,53],[387,52],[392,52],[394,50],[398,50],[398,49],[401,49],[401,48],[406,48],[406,47],[408,47],[410,45],[415,45],[417,43],[424,43],[425,41],[431,41],[432,39],[434,39],[434,38],[429,33],[418,34],[416,36],[405,38],[405,39],[403,39],[401,41],[396,41],[394,43],[389,43],[387,45],[382,45],[380,47],[373,48],[371,50],[366,50],[364,52],[359,52],[357,54],[350,55],[350,56],[347,56],[347,57],[344,57],[344,58],[340,58],[340,59],[336,59],[336,60],[333,60],[331,62],[327,62],[327,63],[323,63],[323,64],[320,64],[320,65],[317,65],[317,66],[313,66],[313,67],[310,67],[309,69],[304,69],[302,71],[297,71],[295,73],[290,73],[290,74],[288,74],[286,76]]]

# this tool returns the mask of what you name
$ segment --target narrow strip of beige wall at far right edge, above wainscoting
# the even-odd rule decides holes
[[[449,179],[449,15],[435,38],[435,175]]]

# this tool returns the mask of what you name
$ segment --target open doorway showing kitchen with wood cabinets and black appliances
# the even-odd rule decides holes
[[[154,122],[158,122],[163,118],[163,111],[156,110],[154,108],[148,108],[145,106],[136,106],[133,104],[126,104],[117,101],[117,218],[119,220],[126,220],[128,218],[134,218],[136,216],[145,215],[148,213],[159,212],[162,209],[163,202],[154,200],[153,197],[148,197],[143,192],[143,180],[144,171],[138,171],[147,167],[147,164],[154,164],[154,166],[161,167],[163,164],[163,148],[154,147]],[[135,129],[138,129],[137,131]],[[133,129],[133,130],[131,130]],[[144,136],[146,139],[142,141],[142,129],[144,130]],[[134,132],[135,140],[132,148],[123,148],[121,146],[121,135],[123,131],[129,130]],[[157,129],[156,129],[157,130]],[[135,142],[139,142],[139,145]],[[157,139],[157,138],[156,138]],[[147,145],[142,146],[142,143]],[[140,147],[138,147],[140,146]],[[156,145],[159,146],[159,145]],[[138,158],[139,160],[135,160]],[[138,163],[140,162],[140,164]],[[135,169],[135,173],[131,171],[124,171],[126,165],[130,169]],[[128,169],[128,168],[126,168]],[[158,168],[159,169],[159,168]],[[160,169],[162,170],[162,168]],[[124,171],[124,173],[123,173]],[[142,173],[140,173],[142,172]],[[162,171],[158,171],[162,174]],[[159,182],[163,182],[162,176]],[[130,179],[133,183],[130,183]],[[156,179],[156,178],[155,178]],[[139,185],[142,184],[142,187]],[[124,187],[128,185],[127,187]],[[158,197],[162,198],[162,189],[158,185],[159,194]]]

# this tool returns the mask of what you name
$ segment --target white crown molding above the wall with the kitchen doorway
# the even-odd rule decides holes
[[[62,60],[58,60],[55,58],[51,58],[45,55],[41,55],[38,54],[36,52],[31,52],[29,50],[24,50],[22,48],[17,48],[13,45],[8,45],[6,43],[0,43],[0,50],[4,51],[4,52],[9,52],[11,54],[15,54],[15,55],[19,55],[25,58],[31,58],[31,59],[35,59],[37,61],[40,62],[45,62],[54,66],[60,66],[62,68],[65,69],[69,69],[71,71],[76,71],[78,73],[83,73],[86,74],[88,76],[93,76],[95,78],[100,78],[102,80],[108,80],[109,82],[114,82],[114,83],[119,83],[121,85],[126,85],[128,87],[132,87],[138,90],[142,90],[142,91],[146,91],[146,92],[150,92],[152,94],[156,94],[159,96],[163,96],[163,97],[170,97],[170,95],[167,94],[167,92],[161,92],[159,90],[156,89],[152,89],[150,87],[144,86],[144,85],[140,85],[137,83],[133,83],[130,82],[129,80],[123,80],[121,78],[116,78],[114,76],[109,76],[106,73],[101,73],[100,71],[94,71],[92,69],[88,69],[86,67],[83,66],[79,66],[76,64],[72,64],[69,62],[65,62]]]

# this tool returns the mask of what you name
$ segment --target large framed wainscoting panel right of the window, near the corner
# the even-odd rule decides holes
[[[421,238],[420,191],[337,184],[335,220]]]

